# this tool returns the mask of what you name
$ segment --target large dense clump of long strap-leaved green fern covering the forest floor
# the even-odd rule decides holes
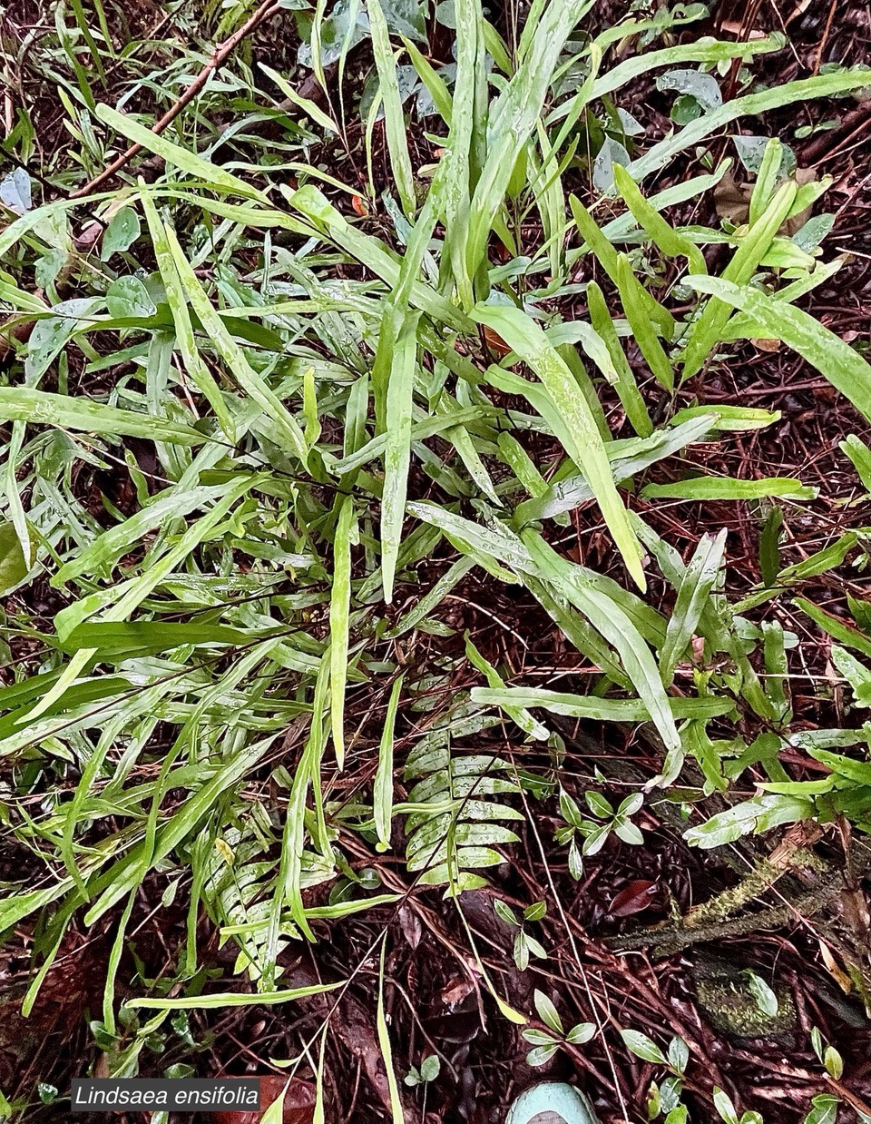
[[[442,119],[436,163],[416,175],[400,44],[371,0],[380,97],[365,143],[371,157],[383,112],[396,188],[380,226],[365,221],[374,187],[364,198],[312,164],[305,147],[291,162],[291,185],[288,169],[271,158],[252,164],[239,152],[232,164],[219,163],[233,137],[217,145],[214,130],[215,146],[201,151],[199,114],[180,119],[172,139],[93,97],[83,120],[70,79],[62,100],[71,135],[83,138],[82,166],[123,140],[165,162],[166,173],[154,182],[131,178],[120,193],[88,203],[107,236],[116,224],[105,262],[73,248],[76,200],[30,209],[18,193],[22,214],[0,233],[3,311],[12,327],[33,329],[10,333],[15,362],[0,387],[0,420],[10,424],[3,591],[22,590],[45,571],[66,602],[51,623],[25,608],[10,617],[11,631],[35,643],[20,681],[0,688],[0,755],[16,770],[9,822],[47,879],[10,888],[0,927],[13,931],[44,913],[46,970],[74,916],[92,925],[133,903],[144,882],[199,862],[207,907],[241,939],[239,969],[267,990],[282,942],[314,936],[303,898],[310,878],[339,865],[339,817],[327,797],[337,773],[360,764],[352,707],[360,695],[399,681],[414,651],[414,641],[402,649],[407,634],[450,633],[434,616],[473,568],[524,587],[601,678],[588,695],[554,698],[537,687],[506,687],[479,661],[488,686],[477,689],[470,711],[423,738],[406,761],[414,787],[405,813],[387,795],[393,737],[385,735],[381,760],[389,768],[375,778],[368,821],[385,847],[388,821],[407,815],[408,867],[421,880],[450,892],[480,886],[477,871],[501,862],[499,849],[517,837],[510,825],[520,813],[510,801],[529,779],[507,753],[454,747],[462,731],[499,720],[495,707],[524,737],[542,742],[550,732],[534,708],[650,723],[664,750],[663,785],[686,753],[710,788],[737,774],[747,754],[775,771],[779,743],[773,753],[760,738],[738,745],[711,736],[708,724],[728,722],[740,704],[760,733],[791,736],[789,637],[754,632],[726,605],[716,537],[684,564],[628,510],[622,491],[690,444],[775,424],[775,414],[741,404],[677,409],[674,388],[732,342],[781,339],[867,417],[869,368],[793,305],[836,268],[820,263],[814,239],[783,233],[823,181],[799,184],[773,143],[747,221],[720,230],[681,227],[663,212],[704,198],[725,164],[714,167],[706,154],[704,174],[681,174],[655,193],[645,181],[742,117],[859,89],[868,74],[838,69],[743,93],[643,152],[625,135],[622,148],[614,136],[606,145],[604,126],[610,121],[615,132],[607,107],[632,81],[678,65],[716,81],[734,60],[782,43],[704,38],[639,51],[608,69],[614,44],[659,36],[700,11],[630,17],[575,38],[591,8],[536,2],[509,46],[478,0],[457,0],[453,73],[402,40]],[[324,17],[321,4],[311,26],[321,84]],[[343,57],[357,30],[355,24]],[[237,78],[247,96],[269,101],[246,67]],[[306,99],[298,108],[330,144],[342,137],[332,110]],[[591,162],[578,155],[588,149]],[[601,197],[590,206],[566,201],[579,172]],[[604,221],[606,208],[622,212]],[[533,246],[530,214],[543,230]],[[729,256],[720,277],[708,272],[704,251],[711,245]],[[203,269],[210,255],[214,269]],[[679,287],[654,292],[645,255],[689,272]],[[593,260],[601,284],[587,277]],[[34,275],[45,282],[38,292]],[[67,284],[81,293],[71,301],[62,299]],[[577,307],[579,285],[588,315],[564,319],[559,309]],[[628,360],[629,337],[643,356],[643,379]],[[121,373],[91,396],[81,390],[87,380],[71,378],[67,352],[89,374]],[[46,389],[49,372],[55,389]],[[656,386],[659,416],[647,382]],[[601,405],[606,384],[628,419],[622,439]],[[34,436],[35,426],[46,429]],[[548,442],[552,465],[527,452],[530,433]],[[143,444],[147,471],[134,453]],[[134,498],[123,509],[103,496],[97,519],[75,481],[117,466]],[[700,475],[641,491],[642,499],[675,501],[778,497],[802,502],[813,490],[791,479]],[[590,502],[625,582],[548,541],[553,525]],[[441,563],[443,551],[451,552],[448,569],[416,599],[418,573]],[[647,552],[677,592],[670,619],[646,591]],[[796,579],[784,570],[775,575],[783,588]],[[757,604],[769,592],[756,591]],[[693,636],[705,645],[695,663]],[[756,647],[768,667],[764,688],[748,651]],[[451,659],[435,658],[437,678]],[[852,663],[843,665],[859,682]],[[393,719],[400,701],[391,694]],[[392,720],[387,725],[392,731]],[[299,736],[288,740],[289,727]],[[272,828],[267,844],[236,836],[238,804],[273,778],[276,755],[289,783],[274,837]],[[44,783],[51,796],[33,815]],[[208,845],[198,844],[203,839]],[[216,840],[228,850],[216,850]],[[311,867],[310,853],[319,856]],[[264,865],[272,854],[274,879]],[[123,914],[119,948],[128,919]],[[109,1009],[111,990],[110,980]]]

